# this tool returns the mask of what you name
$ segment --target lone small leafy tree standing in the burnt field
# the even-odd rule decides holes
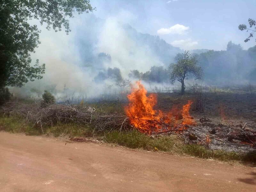
[[[189,51],[185,51],[185,53],[182,54],[182,57],[179,56],[177,62],[170,65],[170,69],[170,82],[174,84],[177,80],[181,83],[181,95],[184,95],[185,92],[184,81],[188,79],[190,75],[195,76],[196,79],[201,79],[203,77],[202,67],[197,65],[196,57],[191,57]]]

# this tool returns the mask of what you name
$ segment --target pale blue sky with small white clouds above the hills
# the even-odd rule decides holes
[[[255,38],[245,43],[249,34],[238,30],[248,18],[256,19],[256,0],[91,0],[91,4],[97,17],[117,17],[183,49],[225,50],[228,41],[244,49],[256,45]]]

